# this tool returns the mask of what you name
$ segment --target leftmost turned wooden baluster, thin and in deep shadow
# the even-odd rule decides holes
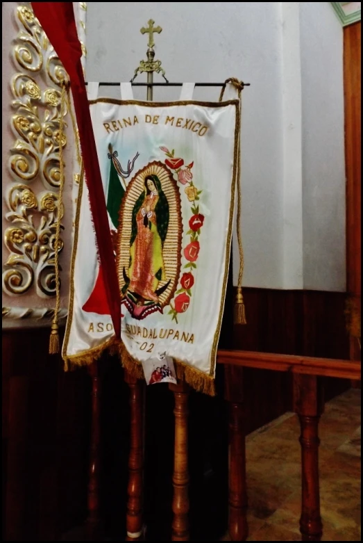
[[[100,478],[100,395],[99,367],[97,362],[88,366],[92,379],[92,425],[90,444],[90,471],[88,481],[88,517],[86,521],[87,535],[90,541],[99,538],[99,478]]]

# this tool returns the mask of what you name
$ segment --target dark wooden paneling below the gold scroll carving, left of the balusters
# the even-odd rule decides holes
[[[84,380],[82,371],[65,375],[60,357],[48,355],[48,345],[48,330],[3,331],[3,539],[8,541],[56,540],[83,512]],[[65,412],[69,418],[63,424]]]

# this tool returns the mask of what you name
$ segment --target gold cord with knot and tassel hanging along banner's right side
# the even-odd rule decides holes
[[[242,277],[244,272],[244,252],[242,248],[242,234],[241,234],[241,215],[242,215],[242,191],[241,191],[241,116],[242,116],[242,90],[244,89],[243,81],[239,81],[235,77],[226,79],[223,87],[221,88],[221,94],[219,95],[219,102],[222,101],[224,91],[226,90],[227,83],[230,83],[235,87],[238,92],[239,99],[239,127],[238,127],[238,142],[237,142],[237,168],[236,179],[237,185],[237,243],[239,251],[239,272],[238,282],[235,296],[234,306],[234,321],[235,324],[246,324],[246,310],[244,307],[244,299],[242,294]]]

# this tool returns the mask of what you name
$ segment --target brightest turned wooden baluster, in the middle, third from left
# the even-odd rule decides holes
[[[185,383],[169,384],[175,398],[175,448],[173,473],[173,512],[171,541],[189,541],[188,396]]]

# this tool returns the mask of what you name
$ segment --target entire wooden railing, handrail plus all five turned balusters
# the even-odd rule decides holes
[[[360,380],[360,362],[321,359],[290,355],[271,355],[262,352],[219,350],[218,364],[225,366],[225,398],[229,405],[229,521],[228,530],[232,541],[244,541],[248,537],[246,520],[246,453],[244,431],[244,367],[285,371],[293,374],[294,411],[301,425],[301,519],[303,541],[320,541],[323,526],[320,516],[319,497],[319,419],[323,412],[322,377]],[[89,519],[94,537],[99,539],[99,383],[96,370],[92,375],[92,445],[90,457]],[[125,380],[130,387],[130,455],[128,504],[126,511],[126,540],[142,541],[144,527],[142,517],[143,481],[143,432],[142,409],[144,382],[137,381],[126,372]],[[175,450],[174,450],[174,519],[172,541],[189,541],[189,498],[187,457],[188,387],[180,383],[171,385],[175,397]]]

